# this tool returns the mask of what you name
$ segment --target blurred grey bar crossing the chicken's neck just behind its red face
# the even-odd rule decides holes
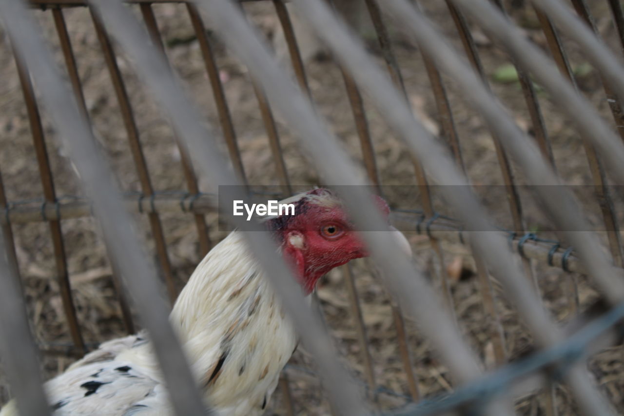
[[[172,76],[162,53],[153,47],[145,47],[149,44],[145,38],[147,35],[125,9],[122,2],[98,0],[92,4],[97,7],[104,21],[112,29],[110,32],[115,34],[119,44],[133,57],[137,70],[142,74],[159,104],[171,117],[175,130],[190,150],[196,166],[207,177],[210,177],[213,186],[214,184],[223,186],[240,183],[228,171],[212,134],[202,126],[201,117],[182,94],[182,89]],[[226,186],[221,187],[220,190],[225,194],[225,201],[228,201],[230,197],[243,199],[245,196],[237,187]],[[223,212],[228,212],[230,207],[222,208]],[[266,235],[260,225],[246,222],[241,217],[232,215],[232,223],[240,229],[253,231],[244,233],[249,247],[256,254],[258,262],[273,283],[275,291],[280,295],[285,309],[290,313],[295,324],[306,328],[306,331],[301,334],[303,342],[316,357],[323,374],[327,375],[326,388],[330,397],[333,397],[334,403],[343,410],[344,414],[366,413],[358,392],[350,387],[352,385],[350,377],[336,362],[333,349],[328,347],[331,341],[323,331],[322,325],[314,319],[310,311],[301,309],[303,297],[300,289],[295,279],[291,277],[290,270],[284,264],[283,259],[276,253],[275,243],[271,237]]]

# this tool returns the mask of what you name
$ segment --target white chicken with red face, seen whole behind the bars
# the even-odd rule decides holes
[[[365,257],[343,204],[314,189],[281,201],[294,215],[266,218],[306,297],[319,278]],[[383,199],[378,205],[386,216]],[[395,230],[409,251],[405,237]],[[309,299],[309,297],[308,297]],[[207,402],[221,415],[260,415],[298,344],[269,282],[233,231],[197,266],[170,315]],[[110,340],[46,382],[54,415],[170,415],[163,377],[145,334]],[[17,415],[13,402],[0,416]]]

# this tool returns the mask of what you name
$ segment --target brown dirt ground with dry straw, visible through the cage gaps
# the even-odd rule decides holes
[[[458,49],[461,48],[461,42],[445,3],[440,1],[422,1],[421,3],[424,11],[434,19],[452,44]],[[600,33],[607,39],[617,56],[621,56],[617,32],[613,27],[607,2],[591,3]],[[253,4],[246,4],[245,9],[251,21],[257,24],[276,46],[278,57],[286,62],[288,57],[284,55],[285,48],[279,41],[278,21],[271,2],[253,2]],[[220,135],[212,91],[185,7],[176,4],[158,4],[154,6],[154,10],[163,32],[163,39],[167,44],[170,61],[182,77],[189,94],[207,114],[213,131]],[[51,12],[33,11],[33,15],[37,17],[56,52],[59,64],[62,64]],[[65,16],[76,52],[85,101],[97,139],[110,164],[114,167],[117,179],[124,191],[139,192],[140,184],[129,151],[127,133],[89,12],[87,9],[78,7],[67,9]],[[137,16],[139,16],[138,10]],[[539,23],[529,6],[513,9],[512,16],[523,27],[527,36],[545,47]],[[509,64],[509,56],[477,27],[474,25],[471,27],[494,92],[499,96],[500,101],[512,111],[519,126],[530,132],[529,116],[519,84],[513,80],[502,82],[500,77],[502,68]],[[364,29],[362,27],[360,29],[364,37],[372,39],[365,26]],[[220,77],[232,112],[246,175],[250,183],[256,186],[278,184],[275,164],[258,110],[258,102],[250,82],[250,71],[225,50],[210,30],[208,32],[217,51]],[[421,117],[430,131],[439,134],[436,106],[420,52],[404,36],[397,31],[392,32],[397,59],[414,112]],[[371,51],[377,53],[378,49],[371,39],[368,42],[369,47]],[[583,95],[595,104],[605,119],[612,121],[596,72],[588,66],[574,44],[565,38],[563,40],[570,55],[572,67],[577,73],[578,86]],[[300,41],[306,40],[300,39]],[[310,42],[314,45],[313,40]],[[314,48],[311,52],[314,52]],[[341,144],[351,154],[353,161],[362,167],[358,136],[344,91],[341,72],[331,56],[323,51],[318,52],[319,54],[316,54],[318,56],[310,53],[309,59],[306,60],[306,71],[310,80],[313,101],[318,106],[319,113],[338,136]],[[378,56],[377,59],[379,64],[383,64],[381,57]],[[117,60],[133,104],[152,184],[158,192],[184,191],[185,181],[180,166],[180,153],[167,120],[158,111],[140,83],[140,79],[132,71],[130,62],[123,54],[119,54]],[[24,201],[36,203],[42,198],[41,180],[9,39],[1,28],[0,80],[0,172],[7,197],[12,203]],[[493,210],[492,215],[497,224],[509,228],[510,214],[504,202],[504,194],[497,193],[500,187],[495,187],[503,182],[492,136],[482,119],[472,109],[470,102],[465,101],[457,91],[454,81],[447,77],[445,81],[469,179],[472,184],[484,186],[484,200]],[[576,186],[592,184],[578,132],[558,111],[557,104],[550,100],[547,92],[539,86],[538,91],[552,142],[555,164],[560,176],[567,184]],[[397,139],[392,136],[392,132],[374,108],[374,104],[374,97],[366,97],[369,128],[373,137],[381,179],[384,184],[396,186],[396,189],[399,189],[399,186],[413,186],[416,184],[416,179],[411,159]],[[59,141],[51,123],[46,118],[45,111],[42,114],[57,195],[81,196],[82,191],[71,162],[59,147]],[[300,186],[319,184],[317,172],[308,164],[296,145],[293,133],[281,121],[279,114],[275,116],[291,182]],[[223,150],[225,152],[225,145]],[[363,169],[362,172],[364,174]],[[520,172],[517,172],[517,177],[519,183],[525,183]],[[210,179],[201,178],[200,184],[202,190],[205,190],[210,184]],[[413,187],[402,189],[411,189],[412,192],[416,192]],[[397,195],[401,192],[404,191],[397,191]],[[504,203],[500,203],[501,201]],[[407,204],[406,200],[391,202],[395,207],[404,209],[419,208],[411,203]],[[595,201],[589,199],[583,202],[588,210],[588,217],[593,222],[597,222]],[[442,214],[453,215],[452,210],[444,206],[441,201],[436,201],[436,207]],[[548,220],[540,214],[533,202],[527,201],[525,214],[530,229],[544,230],[545,233],[540,235],[545,237],[553,236],[548,232],[552,229]],[[147,220],[145,217],[139,220],[147,246],[151,252],[154,252]],[[182,213],[163,214],[162,220],[173,272],[178,284],[182,286],[200,260],[195,224],[192,215]],[[218,227],[217,215],[208,214],[207,221],[213,242],[218,241],[225,233]],[[14,225],[13,229],[16,235],[17,255],[32,330],[39,344],[49,349],[63,349],[71,344],[71,338],[62,312],[59,287],[55,280],[56,268],[49,227],[45,223],[36,222]],[[103,340],[124,334],[125,328],[121,319],[118,296],[112,285],[110,264],[97,225],[90,217],[67,219],[62,222],[62,230],[66,242],[72,295],[76,302],[80,328],[85,341],[89,345],[96,345]],[[412,242],[417,264],[427,275],[431,276],[432,283],[438,287],[439,282],[436,276],[439,275],[440,267],[436,257],[432,254],[427,238],[414,232],[408,233],[408,237]],[[474,265],[469,251],[462,245],[456,244],[444,243],[442,248],[444,267],[452,266],[451,275],[455,277],[452,279],[452,292],[461,329],[470,344],[479,352],[485,366],[492,368],[492,342],[485,330],[487,317],[482,307],[477,281],[474,274],[470,273]],[[458,264],[467,271],[464,270],[463,274],[453,272]],[[392,394],[380,394],[380,404],[383,409],[391,409],[404,404],[409,396],[406,375],[396,341],[391,301],[383,283],[371,272],[371,267],[367,262],[364,260],[354,262],[353,267],[373,357],[376,384],[384,391],[392,392]],[[545,305],[557,320],[567,320],[573,314],[575,305],[573,300],[569,299],[565,289],[571,283],[577,282],[581,307],[597,297],[592,282],[584,276],[566,274],[544,264],[535,264],[535,269]],[[514,355],[532,344],[532,339],[520,324],[517,314],[510,309],[504,299],[504,294],[498,287],[497,290],[497,307],[504,324],[507,349],[511,355]],[[361,347],[358,344],[348,292],[341,270],[333,270],[323,279],[319,285],[318,295],[328,327],[346,364],[354,374],[364,380]],[[407,332],[411,359],[421,395],[432,397],[450,391],[452,389],[451,377],[444,366],[439,364],[429,343],[419,336],[416,325],[411,320],[407,320]],[[42,370],[46,377],[53,377],[71,364],[72,360],[74,359],[64,355],[46,354],[42,357]],[[291,364],[290,385],[295,399],[296,414],[329,414],[328,402],[324,399],[318,382],[314,377],[307,375],[309,371],[307,369],[313,368],[309,357],[305,352],[298,351]],[[621,394],[624,391],[622,350],[614,348],[601,352],[590,360],[589,367],[597,378],[600,389],[610,397],[613,404],[617,405],[620,412],[624,412],[624,400]],[[0,404],[9,397],[7,388],[3,386],[6,384],[0,372]],[[556,394],[560,415],[577,414],[576,405],[570,398],[566,387],[558,386]],[[522,415],[545,414],[544,409],[533,397],[519,399],[517,410]],[[285,414],[281,392],[274,396],[267,414]]]

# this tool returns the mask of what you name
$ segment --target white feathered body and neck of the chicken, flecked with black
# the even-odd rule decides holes
[[[296,347],[276,295],[238,232],[216,245],[170,317],[207,402],[222,415],[260,415]],[[150,342],[105,342],[45,384],[55,416],[171,415]],[[16,416],[13,402],[0,416]]]

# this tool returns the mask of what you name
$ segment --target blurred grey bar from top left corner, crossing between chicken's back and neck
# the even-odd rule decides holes
[[[94,201],[94,211],[102,225],[107,247],[117,260],[137,312],[154,340],[154,350],[168,385],[173,408],[178,415],[204,415],[205,408],[195,380],[177,337],[168,324],[168,309],[153,279],[154,265],[145,257],[142,245],[134,234],[132,220],[120,204],[119,191],[112,181],[111,172],[99,156],[89,124],[80,112],[74,95],[62,80],[50,52],[44,47],[41,34],[24,4],[20,0],[3,1],[0,3],[0,16],[14,42],[17,55],[31,69],[42,102],[80,172],[85,192]],[[23,330],[26,329],[27,325]],[[27,345],[26,342],[24,347]],[[17,353],[16,357],[19,356]],[[36,363],[36,360],[32,362]],[[42,396],[37,395],[40,389],[26,391],[23,385],[15,386],[17,397],[29,397],[28,400],[34,403],[41,400]]]

